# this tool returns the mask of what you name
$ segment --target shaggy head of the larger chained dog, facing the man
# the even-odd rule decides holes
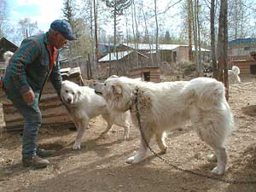
[[[94,89],[97,95],[104,97],[109,108],[125,112],[131,108],[133,92],[139,83],[140,79],[110,77],[104,83],[96,83]]]

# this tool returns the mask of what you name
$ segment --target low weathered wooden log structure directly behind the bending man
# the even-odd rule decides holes
[[[80,85],[84,84],[79,67],[61,69],[61,76],[64,80],[67,79]],[[42,126],[74,126],[73,120],[67,113],[67,109],[63,106],[49,81],[44,85],[39,108],[42,113]],[[5,121],[4,130],[14,131],[23,129],[23,118],[9,101],[3,102],[3,117]]]

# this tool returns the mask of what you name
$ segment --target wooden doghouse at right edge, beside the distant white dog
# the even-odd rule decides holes
[[[232,61],[231,65],[239,67],[241,75],[256,74],[256,61],[236,60]]]

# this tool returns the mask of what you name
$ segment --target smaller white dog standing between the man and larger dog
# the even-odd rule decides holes
[[[102,118],[108,122],[106,130],[102,132],[102,137],[108,133],[113,124],[124,127],[124,139],[129,137],[130,124],[127,121],[129,112],[111,112],[104,98],[97,96],[95,90],[90,87],[79,86],[79,84],[65,80],[61,84],[61,99],[69,109],[78,130],[73,149],[81,148],[82,137],[89,120],[98,115],[102,115]]]

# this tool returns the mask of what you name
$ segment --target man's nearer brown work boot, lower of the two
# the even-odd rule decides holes
[[[22,166],[28,167],[32,166],[33,168],[39,169],[39,168],[45,168],[46,166],[49,166],[49,160],[45,160],[41,157],[38,157],[38,155],[33,155],[32,158],[22,159]]]

